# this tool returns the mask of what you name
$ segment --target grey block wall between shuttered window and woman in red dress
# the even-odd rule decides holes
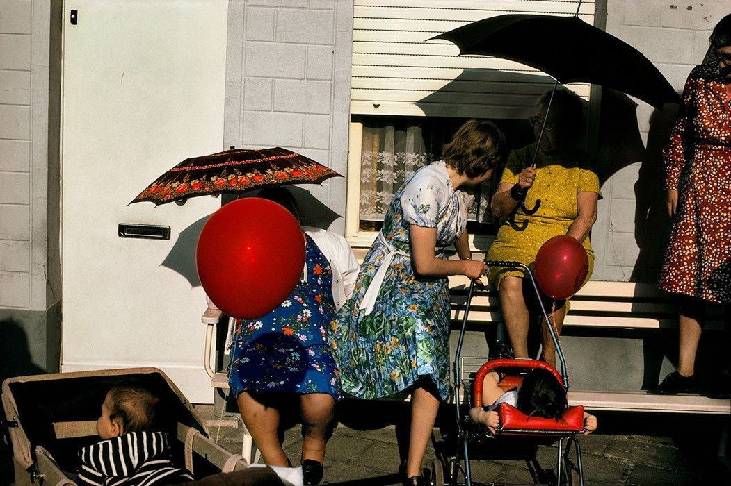
[[[606,4],[607,32],[640,50],[678,92],[693,66],[703,61],[713,26],[731,12],[726,0],[607,0]],[[614,106],[602,106],[599,152],[610,167],[610,177],[603,181],[604,199],[599,201],[599,219],[592,231],[596,253],[592,278],[654,282],[670,228],[661,153],[676,108],[668,105],[658,112],[639,101],[623,111],[616,100],[609,103]]]

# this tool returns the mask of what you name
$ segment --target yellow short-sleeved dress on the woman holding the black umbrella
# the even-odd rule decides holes
[[[515,184],[518,174],[533,160],[536,144],[513,150],[508,157],[500,183]],[[534,269],[536,253],[548,239],[567,234],[578,215],[577,194],[599,192],[599,177],[594,165],[583,150],[572,147],[560,153],[536,158],[536,181],[526,195],[526,207],[533,209],[536,200],[541,204],[533,215],[526,215],[520,205],[501,223],[500,229],[488,252],[488,261],[518,261],[531,271]],[[588,236],[583,246],[588,256],[588,274],[594,269],[594,251]],[[526,277],[523,269],[493,267],[488,277],[499,288],[500,281],[507,275]]]

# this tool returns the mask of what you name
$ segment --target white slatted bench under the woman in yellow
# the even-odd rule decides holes
[[[464,319],[469,279],[450,278],[452,329]],[[499,323],[502,320],[497,291],[493,287],[474,290],[469,306],[468,325]],[[706,329],[722,329],[721,306],[708,306]],[[678,304],[672,294],[653,284],[635,282],[589,281],[571,298],[564,326],[661,329],[678,327]],[[659,396],[643,391],[573,390],[569,405],[588,410],[615,412],[671,412],[694,414],[731,414],[731,401],[697,395]]]

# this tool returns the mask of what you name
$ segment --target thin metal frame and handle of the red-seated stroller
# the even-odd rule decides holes
[[[528,266],[526,266],[523,263],[519,262],[513,262],[513,261],[486,261],[485,263],[488,264],[488,266],[510,266],[510,267],[520,267],[523,270],[526,271],[526,274],[529,276],[531,285],[533,286],[539,306],[541,308],[541,312],[543,314],[543,318],[545,319],[546,325],[548,325],[548,329],[550,331],[551,339],[553,340],[553,344],[556,346],[556,354],[558,355],[558,360],[561,364],[561,382],[564,385],[564,389],[569,389],[569,380],[568,380],[568,374],[567,374],[567,368],[566,368],[566,362],[564,360],[564,354],[561,350],[561,345],[558,342],[558,336],[556,336],[556,331],[553,329],[553,325],[551,325],[550,320],[548,319],[548,314],[546,313],[545,306],[543,305],[543,301],[541,299],[541,293],[539,292],[537,283],[535,282],[535,279],[533,277],[533,272],[531,269],[529,269]],[[469,459],[469,443],[474,441],[480,441],[483,439],[492,439],[494,436],[489,431],[487,431],[486,427],[482,425],[482,430],[480,430],[480,425],[472,422],[469,415],[464,414],[462,411],[463,406],[467,406],[467,409],[469,411],[469,404],[471,401],[471,387],[470,387],[470,393],[463,393],[463,387],[466,387],[465,382],[469,382],[469,379],[465,379],[465,377],[462,376],[462,362],[461,362],[461,351],[462,351],[462,345],[464,341],[464,336],[466,333],[466,325],[467,320],[469,317],[469,305],[472,298],[472,293],[474,291],[474,281],[471,282],[471,285],[469,286],[469,292],[467,294],[467,300],[466,300],[466,307],[464,309],[464,317],[462,321],[462,326],[459,334],[459,340],[457,344],[457,349],[455,351],[455,360],[453,365],[453,372],[454,372],[454,380],[452,385],[452,399],[455,404],[455,419],[457,423],[457,439],[458,439],[458,447],[456,454],[452,457],[446,458],[447,459],[447,476],[444,475],[444,468],[442,466],[442,461],[439,460],[439,458],[436,458],[433,460],[432,467],[431,467],[431,486],[444,486],[445,479],[447,479],[447,485],[451,486],[472,486],[472,479],[471,479],[471,467],[470,467],[470,459]],[[529,361],[534,362],[534,360],[526,360],[526,364],[530,364]],[[486,363],[482,366],[482,368],[485,368],[489,363]],[[546,363],[542,363],[542,365],[547,366],[551,370],[553,370],[553,367],[550,367]],[[480,370],[483,371],[482,369]],[[555,370],[553,370],[555,372]],[[482,373],[480,377],[484,377],[485,373]],[[558,374],[557,374],[558,377]],[[466,402],[465,403],[463,403]],[[583,414],[583,407],[582,407],[582,414]],[[580,486],[583,486],[583,465],[581,462],[581,448],[578,439],[576,438],[577,430],[570,430],[570,431],[561,431],[556,430],[553,428],[553,430],[531,430],[531,429],[522,429],[522,430],[512,430],[512,429],[503,429],[503,428],[497,428],[496,429],[496,436],[500,435],[510,435],[510,436],[533,436],[533,437],[547,437],[547,438],[553,438],[557,439],[557,458],[556,458],[556,482],[553,482],[552,478],[548,478],[548,474],[545,474],[545,471],[540,467],[537,458],[528,458],[526,459],[526,465],[529,468],[529,471],[531,473],[531,477],[534,479],[534,484],[536,485],[546,485],[546,486],[555,486],[555,485],[570,485],[570,486],[576,486],[575,484],[572,484],[572,480],[570,477],[570,471],[573,470],[578,475],[578,484]],[[575,448],[575,458],[576,462],[574,463],[571,459],[571,452],[572,447]],[[463,466],[462,466],[463,462]],[[462,473],[464,477],[464,483],[458,482],[459,474]],[[541,482],[542,479],[546,479],[548,482]],[[489,483],[491,485],[496,485],[496,483]]]

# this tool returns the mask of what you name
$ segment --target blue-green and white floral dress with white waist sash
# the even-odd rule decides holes
[[[330,324],[345,393],[379,398],[429,376],[447,400],[449,286],[446,278],[414,274],[409,226],[436,228],[435,254],[443,257],[444,247],[465,231],[472,199],[452,189],[444,162],[423,167],[395,193],[353,295]]]

